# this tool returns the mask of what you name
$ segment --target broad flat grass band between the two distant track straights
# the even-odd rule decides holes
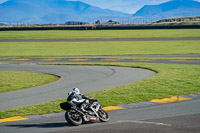
[[[200,41],[0,43],[0,57],[2,58],[198,53],[200,53]]]

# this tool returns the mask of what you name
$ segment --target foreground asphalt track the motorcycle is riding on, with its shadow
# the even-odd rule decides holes
[[[200,97],[176,103],[136,107],[108,112],[106,123],[69,126],[64,112],[29,116],[26,121],[0,124],[2,133],[199,133]]]

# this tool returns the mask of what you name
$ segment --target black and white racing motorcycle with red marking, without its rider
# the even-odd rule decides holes
[[[85,111],[80,110],[81,104],[85,104]],[[108,113],[101,108],[101,104],[96,99],[84,99],[77,106],[64,102],[60,104],[60,107],[66,110],[65,119],[72,126],[79,126],[83,122],[107,122],[110,119]]]

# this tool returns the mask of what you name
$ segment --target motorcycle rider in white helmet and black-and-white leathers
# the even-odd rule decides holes
[[[82,98],[83,100],[79,100]],[[70,103],[72,106],[79,106],[81,111],[87,112],[85,110],[85,100],[84,99],[90,99],[89,97],[83,95],[80,93],[80,90],[78,88],[73,88],[72,92],[69,92],[67,95],[67,102]]]

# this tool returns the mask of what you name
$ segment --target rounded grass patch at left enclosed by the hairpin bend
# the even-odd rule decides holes
[[[57,76],[42,73],[0,71],[0,93],[40,86],[57,79]]]

